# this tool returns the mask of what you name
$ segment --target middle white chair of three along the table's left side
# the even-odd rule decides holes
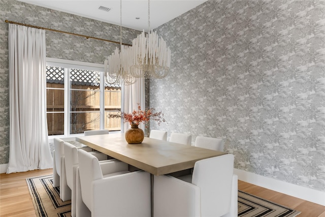
[[[88,153],[95,156],[100,164],[117,161],[116,159],[106,160],[107,155],[98,151],[90,151]],[[66,167],[67,185],[71,190],[71,216],[75,217],[77,205],[77,169],[79,167],[78,148],[69,142],[64,142],[64,156],[66,156],[64,157],[64,164]]]

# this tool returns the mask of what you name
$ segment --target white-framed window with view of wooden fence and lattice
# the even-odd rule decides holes
[[[102,65],[77,63],[57,59],[47,62],[49,136],[100,129],[119,131],[121,120],[108,119],[107,115],[121,110],[120,86],[105,81]]]

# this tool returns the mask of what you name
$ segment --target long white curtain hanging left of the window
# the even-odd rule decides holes
[[[9,24],[7,173],[52,168],[46,120],[45,30]]]

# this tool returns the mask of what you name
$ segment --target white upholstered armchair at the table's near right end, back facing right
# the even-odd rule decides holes
[[[237,216],[233,166],[233,154],[225,154],[196,162],[190,182],[154,176],[154,216]]]

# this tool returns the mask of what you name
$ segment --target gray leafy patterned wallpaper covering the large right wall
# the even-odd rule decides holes
[[[235,167],[325,191],[325,2],[208,1],[157,28],[152,129],[227,139]]]

